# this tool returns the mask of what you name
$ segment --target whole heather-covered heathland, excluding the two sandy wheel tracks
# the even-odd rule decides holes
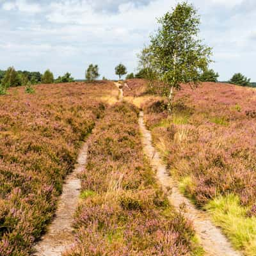
[[[168,200],[143,154],[140,109],[168,173],[234,248],[255,255],[256,91],[232,84],[182,85],[173,113],[147,81],[42,84],[0,98],[0,255],[31,255],[47,232],[67,174],[88,143],[63,255],[204,255],[193,227]]]

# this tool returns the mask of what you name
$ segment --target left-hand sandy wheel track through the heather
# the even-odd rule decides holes
[[[84,143],[77,158],[76,168],[67,176],[63,185],[56,217],[45,236],[35,245],[35,256],[61,256],[61,253],[74,243],[72,221],[81,189],[81,181],[77,178],[77,174],[84,169],[87,150],[88,146]]]

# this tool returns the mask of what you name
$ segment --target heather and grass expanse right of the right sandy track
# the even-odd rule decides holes
[[[222,83],[202,83],[195,90],[182,85],[172,116],[165,106],[156,97],[142,108],[171,175],[196,205],[215,212],[236,248],[255,255],[256,90]]]

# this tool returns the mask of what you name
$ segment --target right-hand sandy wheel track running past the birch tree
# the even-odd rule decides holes
[[[145,154],[150,159],[152,167],[157,171],[157,178],[165,191],[171,189],[172,193],[168,196],[175,209],[180,210],[180,205],[186,205],[182,210],[184,216],[194,223],[196,234],[200,238],[200,244],[205,250],[207,256],[239,256],[241,253],[236,252],[227,238],[221,233],[221,230],[214,226],[207,216],[207,213],[200,211],[192,205],[189,200],[179,193],[175,182],[166,172],[166,166],[161,161],[161,157],[152,145],[152,136],[147,130],[143,120],[143,112],[140,112],[140,130]],[[183,208],[182,208],[183,209]]]

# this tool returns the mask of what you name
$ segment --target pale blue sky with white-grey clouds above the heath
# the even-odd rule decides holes
[[[227,81],[236,72],[256,81],[256,1],[191,0],[211,64]],[[90,63],[115,77],[123,63],[136,72],[137,54],[157,29],[157,18],[177,0],[0,0],[0,69],[70,72],[83,79]]]

